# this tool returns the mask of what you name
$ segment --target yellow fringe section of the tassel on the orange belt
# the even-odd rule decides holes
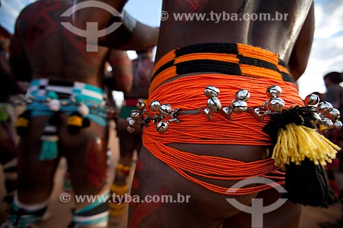
[[[314,164],[322,166],[331,163],[340,147],[320,135],[316,129],[303,125],[290,123],[285,125],[286,129],[279,129],[277,142],[275,144],[272,158],[275,166],[283,168],[289,162],[300,165],[309,158]]]

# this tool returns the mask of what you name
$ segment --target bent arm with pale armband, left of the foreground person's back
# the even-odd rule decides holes
[[[74,6],[86,0],[74,0]],[[97,29],[106,29],[113,23],[122,23],[112,33],[99,37],[98,44],[112,49],[145,50],[157,45],[159,29],[143,25],[127,12],[122,12],[126,0],[100,0],[107,10],[115,8],[118,16],[113,16],[107,10],[98,7],[88,7],[77,10],[73,14],[73,23],[78,29],[86,30],[87,22],[96,22]],[[84,38],[86,40],[86,38]]]

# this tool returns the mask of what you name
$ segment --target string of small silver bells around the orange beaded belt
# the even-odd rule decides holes
[[[212,121],[213,113],[220,113],[229,120],[233,120],[233,114],[248,113],[259,121],[263,122],[264,117],[276,112],[281,112],[285,108],[285,101],[280,98],[282,88],[280,86],[270,86],[266,90],[267,96],[270,98],[259,107],[248,107],[248,99],[250,92],[246,89],[238,90],[235,93],[235,99],[231,101],[230,105],[223,107],[218,98],[220,90],[215,86],[206,86],[204,94],[208,98],[206,108],[198,107],[198,110],[181,110],[180,108],[174,110],[171,105],[162,104],[159,101],[152,101],[149,105],[150,110],[154,115],[150,115],[143,101],[138,101],[137,109],[132,110],[128,121],[128,132],[134,133],[137,127],[147,126],[150,121],[156,125],[156,131],[165,133],[169,129],[169,123],[180,123],[177,116],[184,114],[203,114],[209,121]],[[340,112],[327,101],[320,102],[320,98],[316,94],[309,94],[305,98],[305,105],[314,110],[314,125],[316,125],[320,133],[324,133],[329,129],[340,129],[342,127]],[[165,121],[169,117],[169,120]]]

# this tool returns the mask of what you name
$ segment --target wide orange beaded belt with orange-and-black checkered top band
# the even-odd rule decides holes
[[[168,81],[186,73],[189,75]],[[213,72],[213,73],[208,73]],[[249,91],[247,107],[259,107],[270,97],[265,90],[271,85],[279,85],[285,107],[303,105],[296,86],[288,80],[287,69],[281,66],[278,55],[248,45],[204,44],[184,47],[167,53],[156,63],[150,97],[147,103],[161,101],[178,110],[199,110],[206,106],[204,88],[209,85],[219,88],[222,105],[230,106],[235,100],[235,92],[242,88]],[[205,92],[206,94],[206,92]],[[146,114],[156,113],[150,107]],[[200,111],[198,111],[200,112]],[[206,112],[206,110],[204,110]],[[180,114],[180,112],[179,112]],[[170,143],[187,144],[241,144],[269,146],[272,144],[268,134],[263,133],[263,121],[245,112],[226,118],[223,113],[178,115],[178,123],[170,123],[163,134],[156,131],[154,123],[143,128],[143,145],[155,157],[165,162],[180,175],[220,194],[250,194],[272,188],[269,185],[239,188],[235,191],[199,179],[241,180],[248,177],[271,177],[279,184],[284,183],[284,174],[274,166],[271,158],[255,162],[240,162],[225,157],[217,157],[213,151],[209,155],[195,155],[168,147]],[[172,118],[172,116],[170,117]],[[164,118],[164,120],[167,118]],[[237,151],[239,153],[239,151]]]

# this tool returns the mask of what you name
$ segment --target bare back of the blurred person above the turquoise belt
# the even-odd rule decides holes
[[[68,31],[60,16],[73,1],[43,0],[29,5],[18,19],[19,36],[32,68],[32,79],[82,81],[102,86],[102,72],[108,49],[86,51],[82,37]]]

